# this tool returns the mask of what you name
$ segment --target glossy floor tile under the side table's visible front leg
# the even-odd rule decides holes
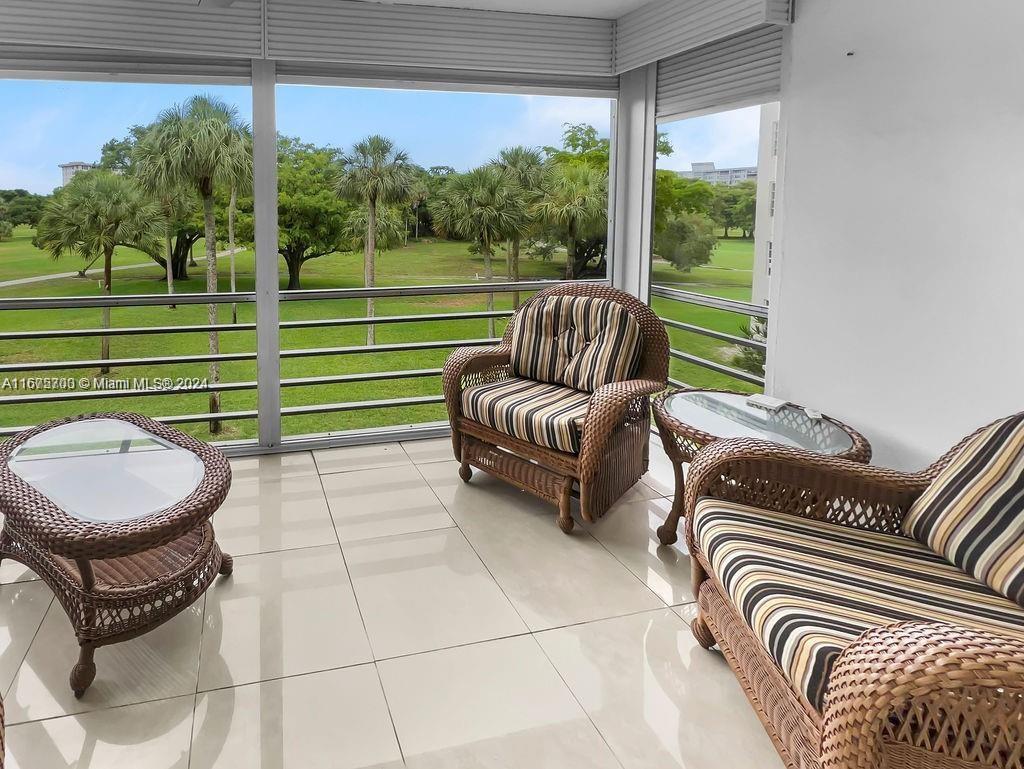
[[[672,503],[665,499],[617,503],[590,532],[670,606],[693,600],[686,546],[665,547],[657,527]]]

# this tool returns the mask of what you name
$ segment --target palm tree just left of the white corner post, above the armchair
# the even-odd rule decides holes
[[[608,173],[581,164],[556,163],[545,178],[544,197],[534,207],[541,219],[562,230],[565,277],[571,281],[586,266],[578,253],[581,241],[599,237],[607,227]]]

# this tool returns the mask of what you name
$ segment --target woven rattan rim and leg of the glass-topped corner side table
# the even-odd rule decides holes
[[[726,392],[738,393],[733,390],[701,390],[700,388],[681,388],[663,392],[653,402],[654,424],[657,425],[657,432],[662,437],[662,445],[665,453],[672,462],[672,469],[676,476],[676,495],[672,503],[672,511],[669,517],[657,529],[657,538],[663,545],[672,545],[679,539],[679,519],[683,514],[683,500],[686,494],[686,484],[683,476],[683,465],[693,461],[703,446],[719,439],[719,436],[705,432],[695,425],[689,425],[675,419],[666,408],[666,400],[681,392]],[[799,409],[800,407],[798,407]],[[822,417],[821,421],[830,423],[846,432],[852,441],[852,445],[846,452],[837,456],[852,462],[867,464],[871,460],[871,445],[867,439],[849,425],[845,425],[831,417]]]

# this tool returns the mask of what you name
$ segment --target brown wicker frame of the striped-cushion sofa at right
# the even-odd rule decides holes
[[[790,521],[779,527],[780,537],[787,530],[798,537],[801,531],[817,531],[823,535],[825,551],[834,549],[829,542],[837,543],[835,550],[860,541],[893,541],[899,543],[894,547],[918,548],[915,541],[900,533],[902,518],[973,437],[918,473],[748,439],[713,443],[691,465],[685,511],[699,603],[693,634],[706,648],[718,644],[787,767],[1024,768],[1024,622],[1015,626],[1017,617],[1024,617],[1024,609],[1012,600],[964,575],[962,584],[976,591],[979,601],[1011,617],[1006,633],[979,629],[973,623],[932,622],[929,617],[942,616],[947,608],[940,601],[911,612],[926,614],[924,620],[893,622],[852,634],[830,660],[830,673],[822,676],[823,694],[814,707],[806,687],[795,683],[793,669],[786,670],[773,655],[765,626],[752,622],[751,612],[757,609],[737,602],[735,578],[729,574],[736,561],[728,561],[730,556],[719,549],[721,529],[716,532],[718,540],[708,536],[709,515],[721,515],[726,521],[722,525],[728,526],[731,505],[739,518],[748,516],[742,525],[756,527],[758,516],[774,516]],[[721,512],[710,512],[716,505]],[[771,539],[762,539],[748,548],[742,568],[750,568],[752,559],[775,546]],[[808,564],[817,557],[806,552],[805,560],[794,559],[800,579],[807,579],[813,568]],[[931,553],[923,557],[932,558],[926,568],[941,561]],[[853,570],[870,565],[862,560],[851,563]],[[957,568],[942,563],[935,567]],[[885,591],[902,576],[895,570],[869,573],[867,580],[873,584],[868,589]],[[744,579],[760,591],[755,600],[785,600],[778,594],[766,598],[774,586],[764,572],[748,571]],[[823,590],[813,600],[827,601],[830,594],[845,611],[849,584],[841,575],[814,579],[820,580]],[[912,604],[920,595],[906,591],[895,600]],[[773,633],[786,632],[780,627],[781,617],[771,622]],[[806,629],[804,633],[811,635]]]

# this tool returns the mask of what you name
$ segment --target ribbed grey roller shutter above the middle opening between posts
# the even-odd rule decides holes
[[[266,0],[280,60],[489,72],[611,74],[607,19],[355,2]]]

